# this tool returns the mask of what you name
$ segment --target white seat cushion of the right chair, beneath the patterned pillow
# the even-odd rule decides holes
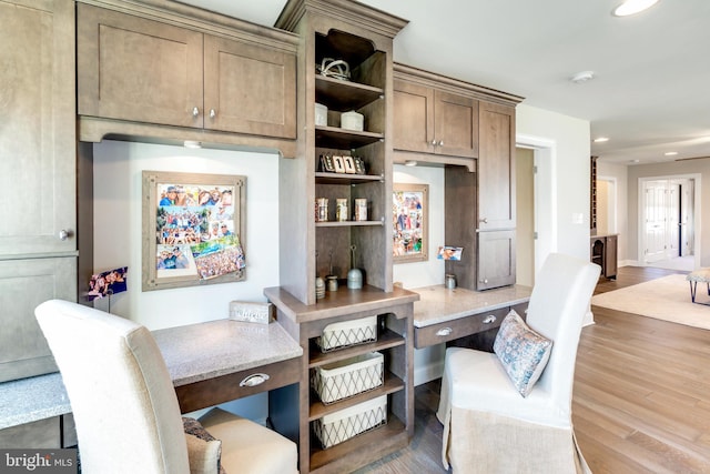
[[[510,390],[510,379],[494,353],[449,347],[445,371],[452,406],[548,426],[571,426],[569,411],[559,406],[545,387],[537,385],[526,397]]]

